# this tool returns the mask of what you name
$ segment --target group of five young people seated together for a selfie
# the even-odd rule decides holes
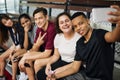
[[[0,55],[0,80],[5,80],[7,60],[12,63],[12,80],[17,70],[19,80],[113,80],[111,44],[120,41],[120,7],[110,7],[116,9],[108,13],[114,16],[108,21],[116,24],[111,32],[93,29],[83,12],[62,12],[55,23],[43,7],[34,10],[33,21],[28,14],[21,14],[18,22],[0,14],[0,46],[6,49]]]

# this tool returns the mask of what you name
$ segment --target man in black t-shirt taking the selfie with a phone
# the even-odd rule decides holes
[[[112,5],[111,8],[117,10],[108,13],[114,16],[108,20],[116,24],[116,27],[111,32],[92,29],[89,20],[82,12],[73,14],[72,23],[74,29],[82,35],[77,42],[75,59],[71,64],[57,69],[54,74],[48,74],[47,80],[56,80],[77,73],[82,64],[84,64],[85,68],[83,70],[84,74],[81,73],[84,75],[83,80],[113,80],[114,53],[111,44],[120,41],[120,7]],[[57,73],[62,69],[64,71]]]

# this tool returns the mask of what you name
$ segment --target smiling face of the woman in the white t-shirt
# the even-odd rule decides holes
[[[63,33],[70,32],[72,30],[72,22],[70,18],[66,15],[62,15],[58,19],[59,21],[59,28]]]

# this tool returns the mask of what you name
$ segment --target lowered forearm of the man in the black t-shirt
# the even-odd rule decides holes
[[[56,79],[77,73],[79,71],[81,63],[82,63],[81,61],[74,61],[71,64],[60,67],[55,71],[53,75],[47,76],[47,80],[56,80]],[[62,70],[62,71],[59,71],[59,70]]]

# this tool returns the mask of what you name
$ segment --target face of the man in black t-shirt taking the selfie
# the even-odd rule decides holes
[[[72,20],[74,29],[81,36],[86,36],[90,30],[89,20],[84,18],[83,16],[77,16]]]

